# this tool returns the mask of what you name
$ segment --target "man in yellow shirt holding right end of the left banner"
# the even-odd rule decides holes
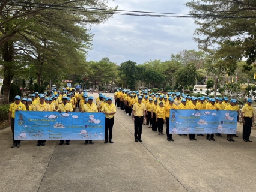
[[[112,130],[114,125],[114,115],[117,109],[112,104],[112,97],[106,98],[107,103],[103,106],[102,112],[105,114],[105,144],[113,143],[112,141]]]

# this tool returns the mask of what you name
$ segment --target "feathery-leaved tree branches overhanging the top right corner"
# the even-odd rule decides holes
[[[218,45],[224,54],[248,58],[244,70],[252,68],[256,58],[255,1],[192,0],[186,5],[192,9],[190,14],[199,25],[194,39],[201,49]]]

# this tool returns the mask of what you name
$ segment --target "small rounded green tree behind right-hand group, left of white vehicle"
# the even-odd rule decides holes
[[[176,86],[181,86],[184,92],[185,86],[194,86],[197,79],[197,68],[194,64],[187,64],[177,70],[176,73]]]

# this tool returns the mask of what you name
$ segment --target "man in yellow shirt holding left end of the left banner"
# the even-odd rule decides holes
[[[15,148],[17,146],[17,148],[20,148],[20,140],[15,140],[14,139],[14,124],[15,124],[15,112],[19,111],[19,110],[26,110],[26,107],[24,104],[22,104],[20,102],[20,96],[16,95],[14,97],[15,101],[14,103],[10,104],[9,107],[9,113],[8,113],[8,119],[9,119],[9,125],[11,126],[11,131],[13,132],[13,145],[11,145],[11,148]]]

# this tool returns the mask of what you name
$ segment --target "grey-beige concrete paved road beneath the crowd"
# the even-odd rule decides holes
[[[10,148],[9,127],[0,130],[0,191],[254,191],[256,133],[249,143],[241,125],[238,131],[236,142],[177,135],[168,142],[144,125],[136,143],[132,119],[118,109],[114,144],[24,141]]]

